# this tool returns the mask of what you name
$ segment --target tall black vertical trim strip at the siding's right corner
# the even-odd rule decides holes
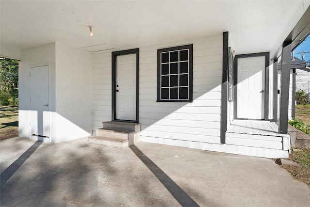
[[[227,130],[227,102],[228,102],[228,67],[229,67],[228,32],[223,32],[223,73],[221,95],[221,143],[226,143]]]

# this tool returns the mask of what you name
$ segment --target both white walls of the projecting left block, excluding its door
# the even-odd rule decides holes
[[[49,65],[49,142],[92,132],[92,55],[60,43],[21,51],[19,62],[19,136],[30,134],[30,67]],[[32,137],[33,138],[33,137]]]

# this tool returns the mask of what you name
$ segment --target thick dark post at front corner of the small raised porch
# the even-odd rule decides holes
[[[292,41],[283,42],[281,61],[281,92],[279,111],[279,133],[287,134],[287,118],[289,110],[290,69]]]

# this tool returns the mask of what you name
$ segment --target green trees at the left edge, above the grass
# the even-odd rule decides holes
[[[18,105],[18,61],[0,60],[0,105]]]

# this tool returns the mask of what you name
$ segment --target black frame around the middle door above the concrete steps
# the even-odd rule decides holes
[[[119,55],[136,54],[136,120],[116,119],[116,59]],[[139,48],[112,52],[112,121],[139,123]]]

